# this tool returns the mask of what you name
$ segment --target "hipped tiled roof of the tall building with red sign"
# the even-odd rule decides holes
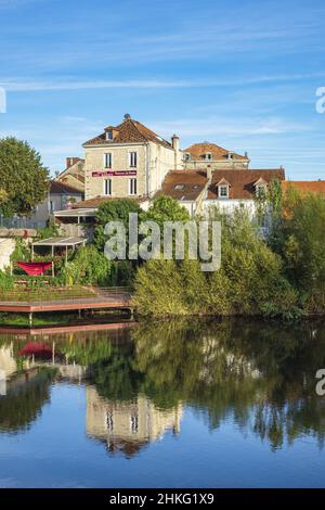
[[[114,133],[112,140],[106,140],[106,131],[108,129],[112,129]],[[121,124],[116,127],[109,126],[102,135],[84,142],[83,146],[98,145],[102,143],[144,143],[148,141],[158,143],[159,145],[164,145],[168,149],[172,148],[171,143],[167,140],[164,140],[164,138],[159,137],[138,120],[133,120],[127,116]]]

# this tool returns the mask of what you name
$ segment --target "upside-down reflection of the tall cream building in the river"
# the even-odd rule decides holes
[[[107,444],[108,451],[133,457],[141,448],[171,430],[180,432],[182,406],[162,410],[144,395],[133,401],[102,398],[94,386],[87,390],[87,434]]]

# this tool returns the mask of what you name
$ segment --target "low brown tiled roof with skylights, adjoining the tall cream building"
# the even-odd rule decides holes
[[[171,170],[155,197],[172,196],[179,201],[195,201],[208,182],[207,175],[198,170]]]

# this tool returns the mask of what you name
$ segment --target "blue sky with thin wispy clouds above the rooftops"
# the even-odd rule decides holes
[[[129,113],[158,135],[325,179],[323,0],[0,0],[0,137],[52,175]]]

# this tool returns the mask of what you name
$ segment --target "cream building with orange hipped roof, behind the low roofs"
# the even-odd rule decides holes
[[[244,169],[247,170],[249,158],[223,149],[216,143],[194,143],[183,150],[183,167],[191,170]]]

